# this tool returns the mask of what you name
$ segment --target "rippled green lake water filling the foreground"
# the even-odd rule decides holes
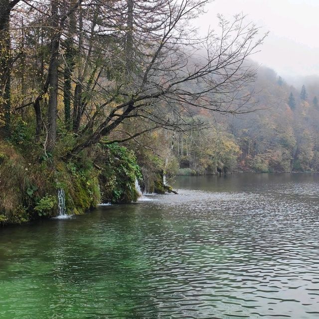
[[[319,318],[319,174],[174,188],[0,229],[0,318]]]

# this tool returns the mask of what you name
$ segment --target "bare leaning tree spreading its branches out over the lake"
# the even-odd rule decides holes
[[[132,13],[133,2],[135,11]],[[127,70],[130,76],[101,78],[108,83],[104,91],[108,99],[104,97],[104,102],[91,113],[70,156],[100,142],[103,137],[108,140],[111,133],[121,125],[129,125],[133,118],[142,120],[143,126],[137,128],[143,130],[136,130],[123,141],[158,127],[198,128],[198,121],[183,120],[183,114],[194,114],[196,108],[233,114],[253,110],[249,104],[253,92],[244,88],[255,80],[256,70],[246,59],[264,39],[256,39],[258,29],[245,24],[243,16],[236,16],[233,22],[219,16],[221,37],[210,33],[205,39],[198,39],[195,30],[187,25],[190,18],[201,12],[206,1],[160,2],[162,5],[156,11],[145,5],[145,1],[128,1],[122,14],[128,17],[124,21],[126,48],[118,52],[119,60],[114,61],[112,57],[100,64],[118,63],[119,69]],[[100,94],[101,91],[90,92],[95,97],[102,97]],[[105,114],[104,119],[101,114]],[[83,134],[88,133],[89,128],[91,133]]]

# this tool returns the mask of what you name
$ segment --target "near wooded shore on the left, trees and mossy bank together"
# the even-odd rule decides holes
[[[0,1],[0,222],[164,192],[175,136],[250,110],[265,35],[238,15],[199,36],[206,2]]]

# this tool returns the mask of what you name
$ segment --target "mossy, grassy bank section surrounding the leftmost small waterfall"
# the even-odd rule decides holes
[[[69,214],[83,213],[100,202],[99,171],[85,155],[74,163],[26,152],[0,141],[0,223],[55,216],[59,188],[65,190]]]

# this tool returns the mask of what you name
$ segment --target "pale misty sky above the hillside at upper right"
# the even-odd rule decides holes
[[[216,27],[216,15],[243,12],[270,31],[253,59],[282,76],[319,75],[319,0],[215,0],[207,5],[201,30]]]

